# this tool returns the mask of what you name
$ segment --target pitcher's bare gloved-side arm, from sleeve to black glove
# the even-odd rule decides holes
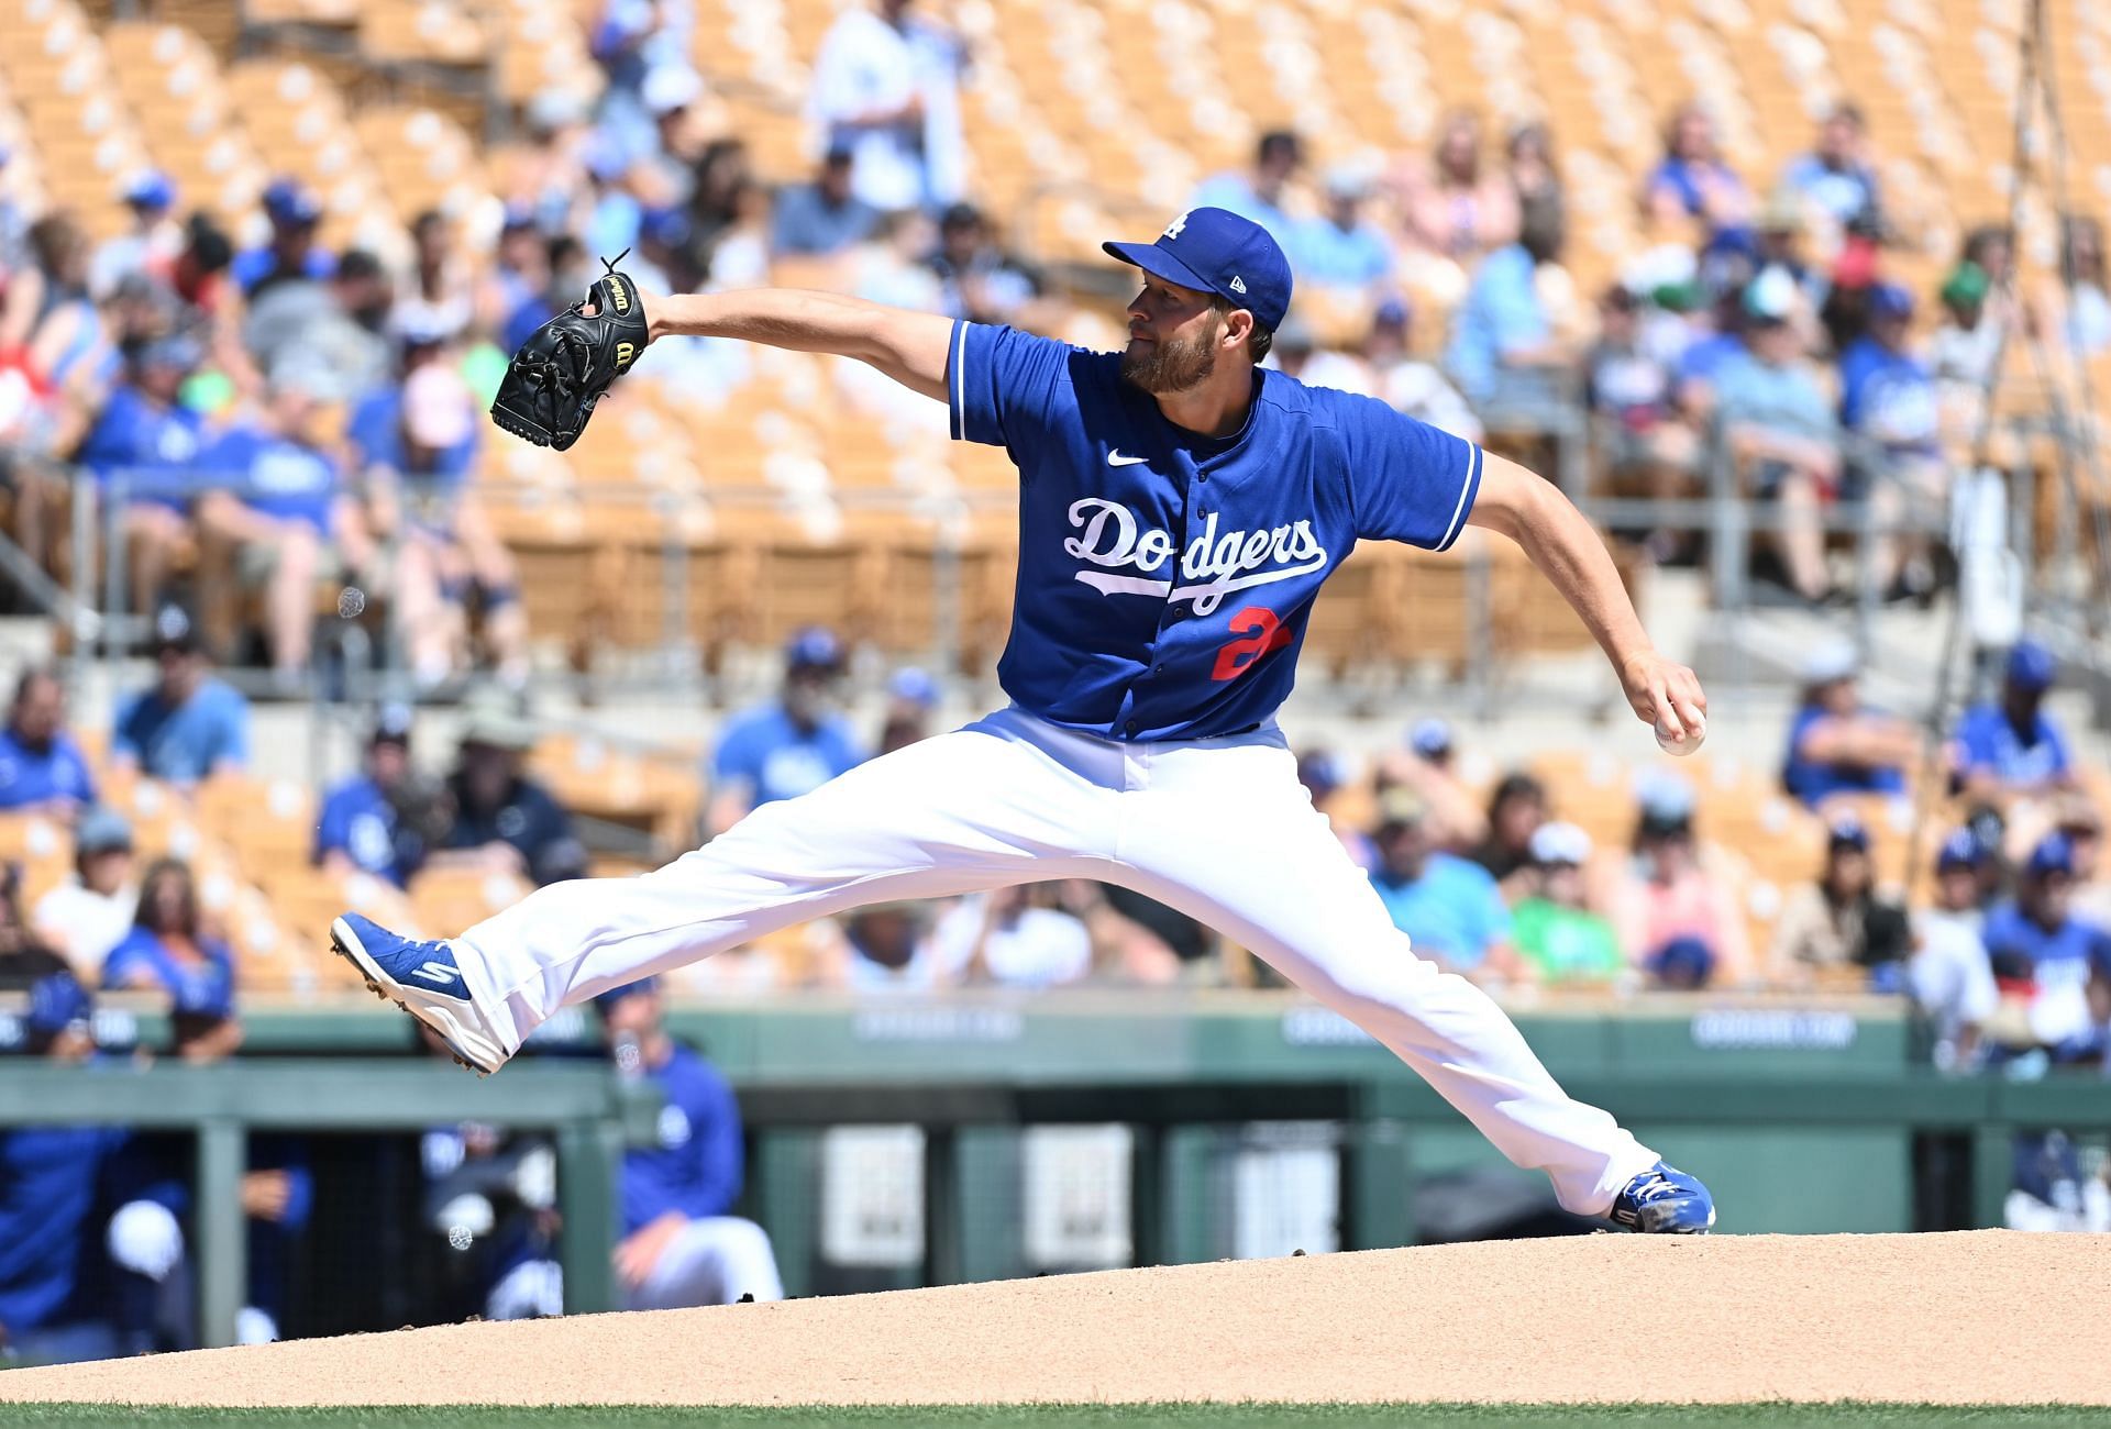
[[[730,293],[646,296],[648,342],[669,336],[739,338],[796,353],[872,363],[901,386],[946,401],[952,319],[863,298],[749,287]]]

